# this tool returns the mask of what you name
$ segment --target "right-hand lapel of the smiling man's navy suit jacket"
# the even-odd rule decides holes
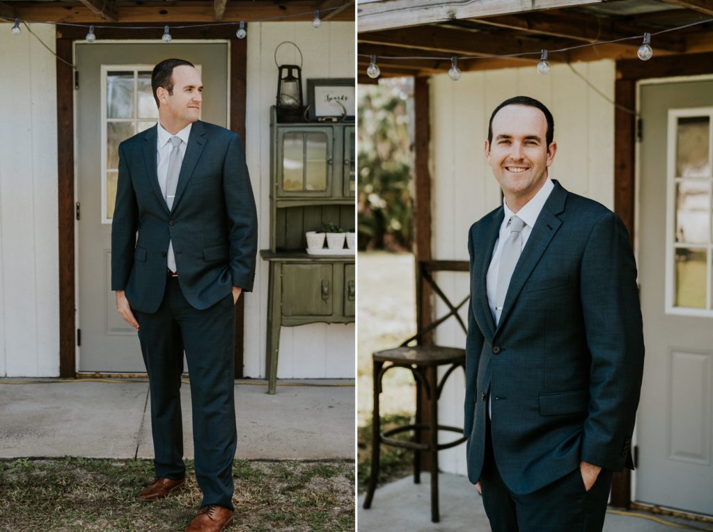
[[[550,245],[550,241],[552,241],[560,225],[562,225],[562,221],[557,215],[565,209],[567,191],[557,181],[553,180],[553,182],[555,183],[555,188],[550,193],[550,197],[545,202],[542,211],[540,211],[528,242],[520,255],[518,264],[515,266],[515,271],[513,271],[497,330],[500,330],[503,327],[503,323],[508,319],[508,315],[520,295],[520,291],[523,290],[525,282],[545,253],[545,249]]]

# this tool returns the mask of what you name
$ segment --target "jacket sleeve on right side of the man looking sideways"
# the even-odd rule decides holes
[[[228,269],[233,286],[240,286],[243,291],[250,292],[255,280],[257,212],[250,175],[245,165],[245,151],[238,135],[232,137],[227,147],[223,189],[230,239]]]

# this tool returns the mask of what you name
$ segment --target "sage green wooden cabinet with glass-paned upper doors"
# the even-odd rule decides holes
[[[354,255],[307,254],[307,231],[356,227],[354,122],[279,123],[271,110],[268,393],[277,389],[279,331],[307,323],[353,323]],[[309,356],[309,353],[305,353]]]

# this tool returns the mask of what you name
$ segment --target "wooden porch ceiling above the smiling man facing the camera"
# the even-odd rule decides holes
[[[713,51],[709,0],[359,0],[357,16],[359,83],[376,83],[366,76],[369,56],[381,77],[394,77],[444,73],[451,56],[461,71],[534,67],[542,49],[552,64],[636,58],[645,32],[656,56]],[[701,21],[709,22],[654,35]],[[488,58],[519,53],[528,55]]]

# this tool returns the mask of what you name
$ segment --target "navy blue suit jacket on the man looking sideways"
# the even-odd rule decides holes
[[[178,282],[194,308],[212,306],[232,286],[252,291],[257,215],[240,137],[193,123],[170,212],[158,184],[156,137],[154,126],[119,145],[111,289],[125,290],[139,311],[158,310],[173,241]]]

